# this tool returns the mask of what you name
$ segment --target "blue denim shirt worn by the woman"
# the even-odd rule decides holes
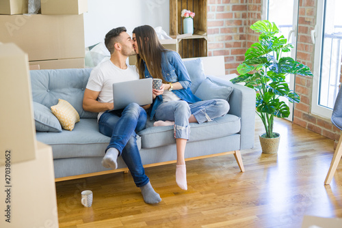
[[[152,78],[150,72],[148,72],[146,63],[145,65],[145,78]],[[175,51],[164,51],[161,53],[161,73],[163,74],[163,78],[165,81],[169,83],[179,82],[183,86],[183,89],[174,89],[172,92],[176,94],[181,100],[185,100],[188,103],[194,103],[200,101],[200,98],[194,96],[190,89],[190,85],[192,81],[190,79],[189,73],[184,66],[184,63],[181,59],[179,53]],[[163,102],[163,98],[161,95],[155,98],[153,102],[152,108],[150,108],[148,114],[150,115],[150,119],[153,119],[155,115],[155,111],[157,110],[159,104]]]

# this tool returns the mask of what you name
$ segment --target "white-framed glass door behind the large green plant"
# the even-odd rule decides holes
[[[298,29],[298,3],[299,0],[265,0],[265,8],[263,18],[276,23],[282,35],[287,38],[287,42],[293,44],[291,53],[282,53],[282,57],[292,57],[296,59],[297,46],[297,29]],[[294,90],[295,76],[287,75],[286,79],[289,88]],[[289,121],[293,119],[293,103],[287,99],[283,100],[289,105],[290,115],[287,117]]]

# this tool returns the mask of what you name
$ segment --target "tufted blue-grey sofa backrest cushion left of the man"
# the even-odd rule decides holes
[[[30,70],[34,102],[51,107],[58,99],[68,100],[81,118],[96,118],[82,108],[84,89],[92,69]]]

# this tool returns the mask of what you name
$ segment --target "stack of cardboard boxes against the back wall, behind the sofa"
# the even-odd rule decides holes
[[[87,0],[42,0],[41,14],[27,14],[28,0],[0,1],[0,42],[12,42],[40,69],[84,68],[83,13]]]

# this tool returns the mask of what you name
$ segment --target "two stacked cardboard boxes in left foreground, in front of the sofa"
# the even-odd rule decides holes
[[[52,148],[36,141],[27,61],[0,44],[0,227],[58,227]]]

